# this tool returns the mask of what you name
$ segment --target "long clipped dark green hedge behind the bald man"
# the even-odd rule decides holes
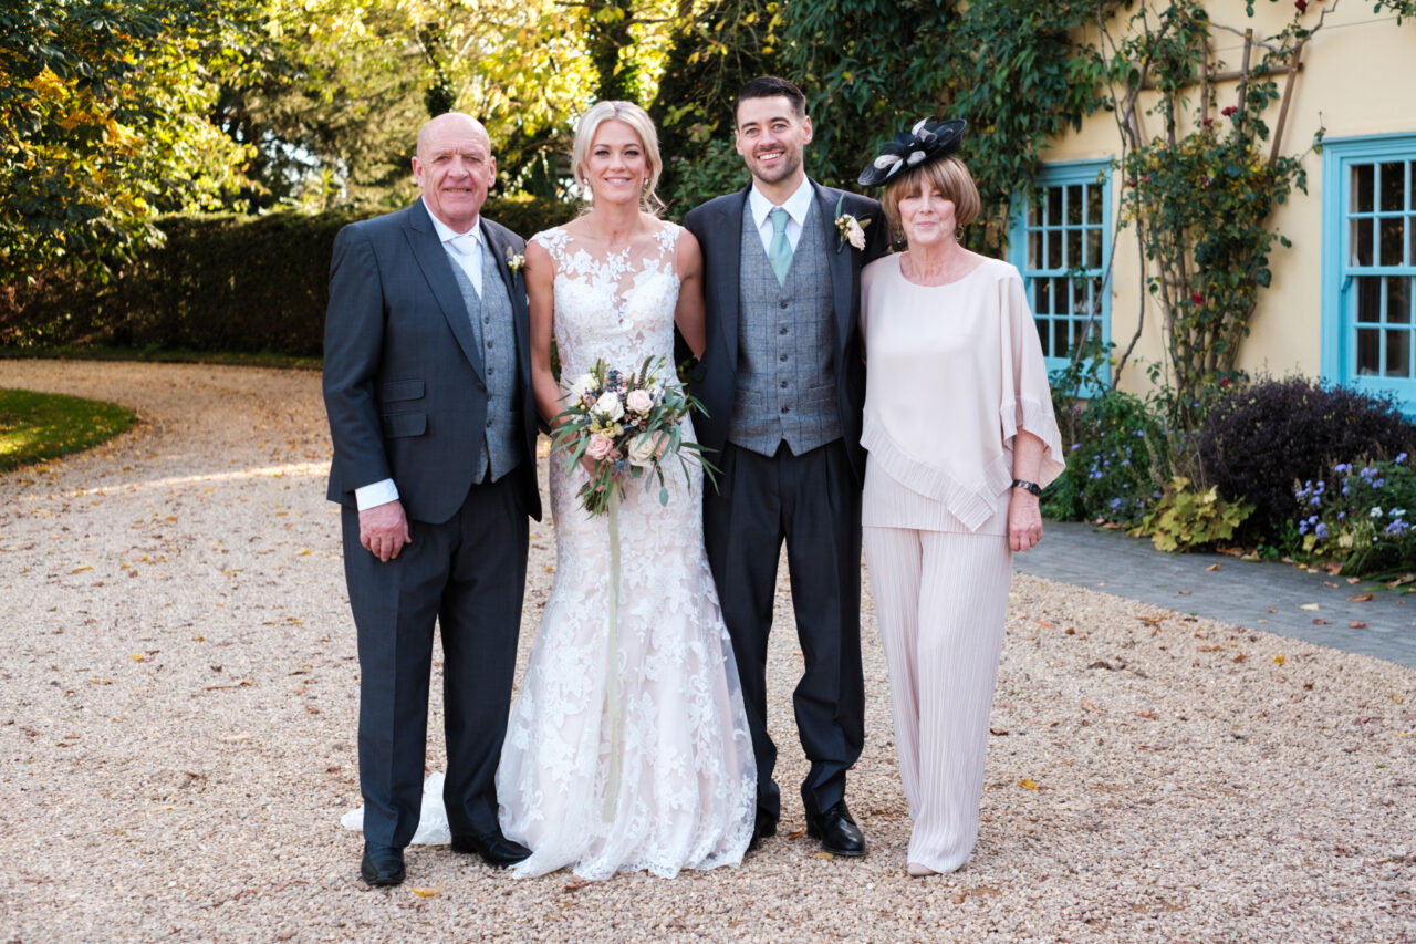
[[[504,197],[483,211],[530,235],[576,208]],[[169,217],[167,242],[115,266],[106,285],[51,274],[0,292],[0,346],[319,356],[334,234],[367,215]]]

